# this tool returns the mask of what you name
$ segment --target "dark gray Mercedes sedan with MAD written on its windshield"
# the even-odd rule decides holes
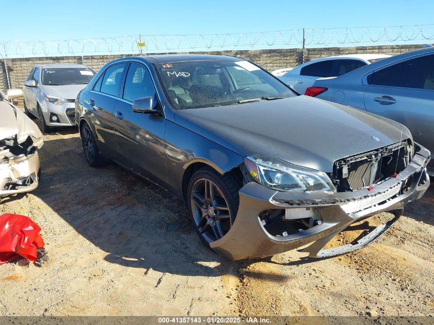
[[[231,56],[112,61],[79,94],[76,119],[90,166],[113,160],[174,193],[201,241],[232,260],[309,243],[312,257],[354,251],[429,186],[430,153],[405,126],[298,96]],[[386,224],[323,249],[383,211]]]

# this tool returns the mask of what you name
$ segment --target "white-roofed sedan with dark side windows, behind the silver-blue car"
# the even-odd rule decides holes
[[[283,75],[276,75],[298,93],[304,94],[318,78],[338,77],[376,61],[389,58],[386,54],[349,54],[329,56],[300,64]],[[274,71],[273,71],[274,72]]]

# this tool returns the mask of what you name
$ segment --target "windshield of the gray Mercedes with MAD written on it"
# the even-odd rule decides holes
[[[248,61],[185,61],[155,65],[175,109],[241,104],[296,94]]]

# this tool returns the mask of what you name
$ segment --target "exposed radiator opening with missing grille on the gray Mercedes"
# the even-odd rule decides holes
[[[338,192],[367,187],[400,173],[410,161],[408,141],[338,160],[333,167],[333,183]]]

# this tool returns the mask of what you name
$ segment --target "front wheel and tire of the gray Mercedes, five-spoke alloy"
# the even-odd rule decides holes
[[[211,187],[206,187],[207,184]],[[241,184],[233,175],[221,176],[211,167],[198,169],[193,174],[187,187],[187,206],[193,227],[205,246],[210,247],[210,242],[230,230],[238,212],[240,188]]]

